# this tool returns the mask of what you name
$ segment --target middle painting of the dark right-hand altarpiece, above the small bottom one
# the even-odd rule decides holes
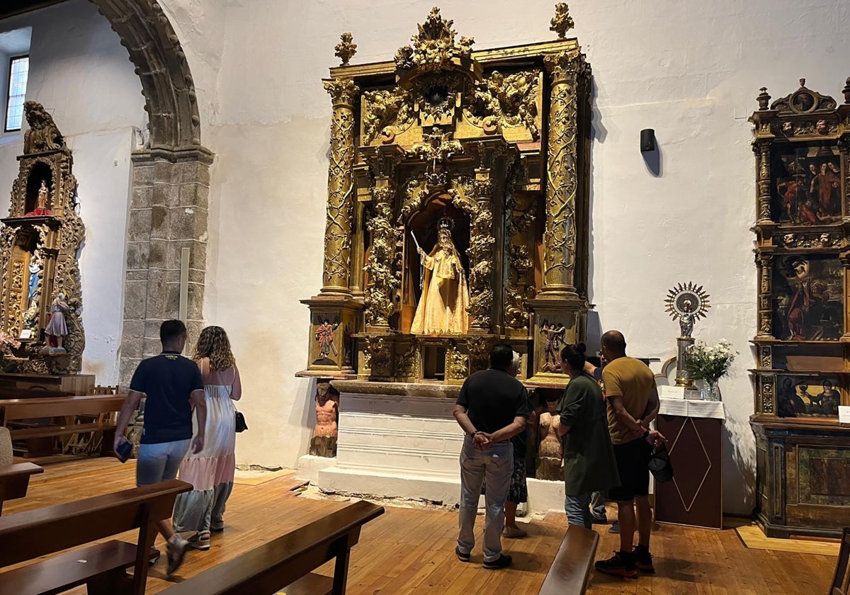
[[[844,333],[844,273],[835,256],[774,257],[773,331],[783,341],[837,341]]]

